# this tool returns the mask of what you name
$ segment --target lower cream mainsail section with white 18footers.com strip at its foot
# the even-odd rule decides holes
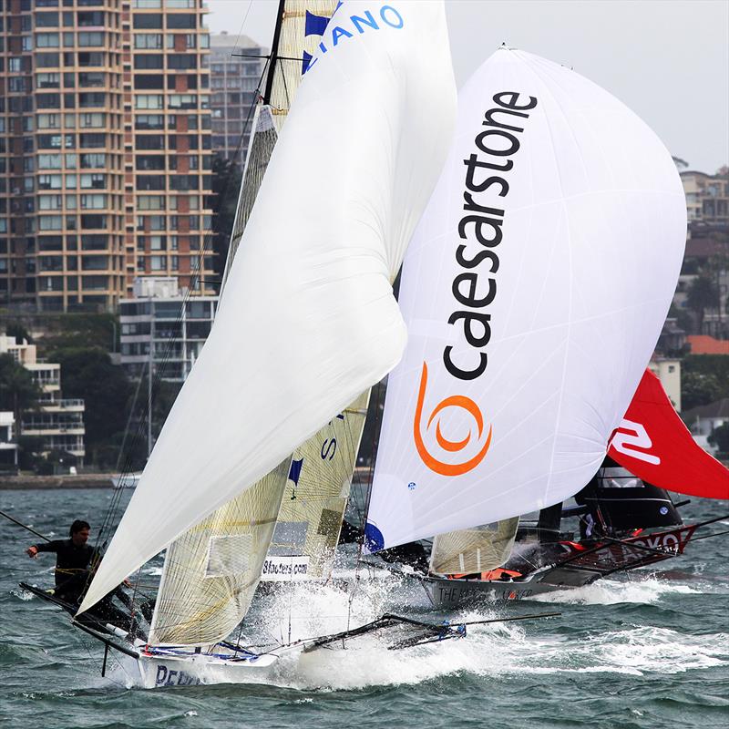
[[[342,529],[370,391],[293,454],[262,580],[327,580]]]

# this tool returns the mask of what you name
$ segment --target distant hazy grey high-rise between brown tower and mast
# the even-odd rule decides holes
[[[248,36],[210,36],[212,149],[222,159],[245,160],[267,52]]]

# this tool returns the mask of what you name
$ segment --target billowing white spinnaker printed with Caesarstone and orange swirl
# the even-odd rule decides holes
[[[369,549],[582,488],[652,354],[685,234],[671,155],[630,109],[539,56],[488,58],[406,256]]]

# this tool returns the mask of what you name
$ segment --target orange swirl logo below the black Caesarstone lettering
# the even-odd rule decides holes
[[[420,391],[417,394],[416,417],[413,421],[413,436],[415,436],[417,452],[423,459],[423,463],[425,463],[426,466],[432,471],[439,473],[441,476],[461,476],[462,474],[467,473],[471,469],[477,467],[477,465],[486,456],[488,447],[491,445],[491,434],[493,426],[488,427],[488,436],[486,437],[486,443],[484,444],[484,447],[482,447],[481,450],[478,451],[476,456],[468,459],[465,463],[443,463],[443,461],[437,460],[436,457],[433,457],[428,452],[426,444],[423,442],[423,436],[420,433],[420,422],[423,416],[423,402],[426,399],[426,385],[427,364],[424,362],[423,375],[420,378]],[[465,397],[463,395],[451,395],[445,400],[441,400],[441,402],[436,405],[435,410],[433,410],[430,417],[428,418],[426,430],[430,427],[436,415],[441,410],[445,410],[447,407],[462,407],[464,410],[467,410],[467,412],[470,413],[470,415],[473,416],[474,420],[476,421],[476,425],[478,427],[478,439],[480,440],[484,431],[484,416],[481,415],[481,411],[478,408],[477,404],[473,400],[471,400],[470,397]],[[437,444],[438,446],[442,447],[444,450],[447,450],[450,453],[457,453],[459,450],[463,450],[465,447],[467,447],[470,439],[471,433],[468,433],[468,435],[463,440],[448,440],[445,436],[443,436],[443,433],[441,432],[440,421],[438,420],[438,422],[436,423]]]

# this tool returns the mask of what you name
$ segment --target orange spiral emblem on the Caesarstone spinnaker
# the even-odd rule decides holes
[[[413,420],[413,436],[415,437],[418,455],[431,471],[435,471],[441,476],[462,476],[477,467],[484,457],[486,457],[488,448],[491,446],[493,426],[488,426],[488,433],[484,438],[484,416],[477,404],[471,400],[470,397],[466,397],[465,395],[449,395],[444,400],[441,400],[433,409],[433,412],[428,417],[424,426],[423,406],[426,399],[426,389],[427,364],[424,362],[423,372],[420,377],[420,387],[417,394],[416,415]],[[466,457],[465,460],[463,458],[457,458],[456,456],[462,451],[468,454],[473,453],[474,447],[471,446],[468,448],[468,445],[471,444],[471,438],[474,435],[474,430],[469,430],[467,436],[460,440],[449,440],[443,435],[440,414],[447,410],[447,408],[452,407],[464,410],[469,416],[471,416],[473,419],[473,425],[476,426],[477,434],[474,441],[477,444],[483,443],[475,455]],[[436,426],[435,437],[431,435],[428,438],[430,444],[429,449],[426,446],[424,436],[434,422]],[[434,450],[436,450],[436,453],[432,452]],[[449,455],[447,460],[442,460],[442,458],[447,455]]]

